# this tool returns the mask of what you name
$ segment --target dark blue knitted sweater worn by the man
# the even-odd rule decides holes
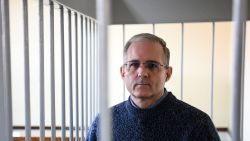
[[[129,100],[111,108],[114,141],[220,141],[209,116],[168,92],[150,109],[138,109]],[[99,116],[87,141],[100,140]]]

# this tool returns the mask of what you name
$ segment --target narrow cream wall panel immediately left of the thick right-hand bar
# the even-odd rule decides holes
[[[216,22],[214,37],[214,123],[228,127],[231,93],[232,40],[231,23]]]

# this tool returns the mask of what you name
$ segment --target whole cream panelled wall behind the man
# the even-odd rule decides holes
[[[112,106],[127,100],[119,68],[123,44],[136,33],[149,32],[162,37],[170,48],[173,76],[166,88],[178,98],[208,113],[217,127],[228,127],[231,62],[231,23],[212,22],[166,24],[125,24],[109,26],[109,86]],[[212,86],[212,47],[214,28],[214,80]],[[117,34],[116,34],[117,33]],[[182,61],[183,34],[183,62]],[[124,41],[123,41],[124,40]],[[181,96],[181,64],[183,65],[183,97]],[[114,83],[115,82],[115,83]],[[124,92],[122,94],[122,92]],[[124,97],[125,94],[125,97]],[[211,103],[213,102],[213,103]],[[213,105],[212,105],[213,104]],[[213,109],[211,109],[213,108]],[[213,115],[211,114],[213,112]]]

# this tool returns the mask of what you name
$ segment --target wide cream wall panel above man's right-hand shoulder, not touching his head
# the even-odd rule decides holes
[[[210,114],[212,23],[184,24],[183,99]]]

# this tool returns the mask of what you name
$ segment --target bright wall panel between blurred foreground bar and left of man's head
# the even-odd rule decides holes
[[[108,76],[109,106],[124,100],[124,86],[120,75],[123,64],[123,25],[108,28]]]

